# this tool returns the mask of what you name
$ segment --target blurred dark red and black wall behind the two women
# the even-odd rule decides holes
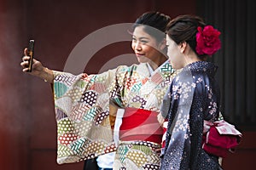
[[[222,32],[218,68],[222,112],[243,133],[224,169],[253,169],[256,156],[256,12],[253,0],[0,0],[0,169],[82,170],[83,162],[56,163],[56,122],[49,83],[23,73],[20,61],[29,39],[35,57],[63,71],[73,48],[105,26],[132,23],[147,11],[172,18],[198,14]],[[102,37],[102,40],[106,37]],[[114,42],[90,56],[84,71],[108,69],[111,59],[132,54],[131,42]],[[136,59],[125,62],[136,62]],[[86,58],[86,54],[84,54]],[[121,59],[122,60],[122,59]],[[112,60],[119,65],[119,60]],[[111,65],[114,66],[114,65]]]

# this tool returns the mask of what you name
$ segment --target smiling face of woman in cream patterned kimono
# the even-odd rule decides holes
[[[160,65],[162,63],[160,58],[164,56],[160,52],[160,44],[154,37],[145,32],[143,28],[144,26],[137,26],[134,29],[131,48],[134,50],[138,62]]]

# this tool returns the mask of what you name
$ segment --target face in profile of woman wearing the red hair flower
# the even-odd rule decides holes
[[[186,65],[186,60],[180,45],[177,45],[168,35],[166,35],[166,45],[167,55],[172,67],[177,70],[183,68]]]

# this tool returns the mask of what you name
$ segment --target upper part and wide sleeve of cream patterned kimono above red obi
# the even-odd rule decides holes
[[[175,75],[168,62],[151,77],[146,64],[119,66],[99,75],[74,76],[58,71],[54,74],[60,164],[116,150],[115,111],[109,105],[159,112],[166,88]]]

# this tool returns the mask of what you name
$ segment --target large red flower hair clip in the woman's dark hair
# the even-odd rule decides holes
[[[205,26],[204,29],[200,26],[197,27],[196,33],[196,53],[212,55],[221,46],[219,39],[220,31],[214,29],[212,26]]]

